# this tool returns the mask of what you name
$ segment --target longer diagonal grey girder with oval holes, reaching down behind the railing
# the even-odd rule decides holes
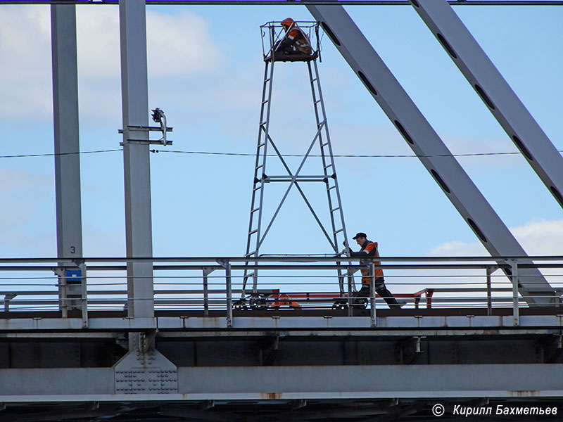
[[[344,8],[307,8],[488,252],[527,256]],[[518,275],[519,293],[530,306],[553,303],[554,290],[538,269]]]

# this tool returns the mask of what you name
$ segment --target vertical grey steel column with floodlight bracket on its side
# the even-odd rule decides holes
[[[127,258],[153,255],[148,159],[148,82],[144,0],[120,0],[121,101]],[[129,316],[154,316],[152,262],[127,263]]]

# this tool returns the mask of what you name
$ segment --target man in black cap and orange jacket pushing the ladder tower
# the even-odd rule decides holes
[[[356,297],[360,298],[367,298],[369,297],[369,285],[372,281],[372,274],[369,269],[369,266],[372,264],[381,265],[381,262],[372,260],[372,258],[379,257],[379,252],[377,251],[377,242],[372,242],[367,240],[367,235],[365,233],[358,233],[356,234],[353,239],[360,245],[361,249],[359,252],[350,251],[350,257],[359,257],[360,263],[362,264],[362,288],[355,293]],[[397,302],[396,298],[393,298],[393,294],[386,288],[385,281],[383,278],[383,270],[381,268],[377,268],[375,271],[375,291],[384,298],[387,305],[390,308],[393,307],[402,307],[405,305],[405,302]]]

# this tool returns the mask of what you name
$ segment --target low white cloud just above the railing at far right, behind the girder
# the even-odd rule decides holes
[[[528,255],[562,255],[563,219],[532,220],[510,229]],[[488,255],[479,242],[451,241],[433,248],[429,256],[483,256]]]

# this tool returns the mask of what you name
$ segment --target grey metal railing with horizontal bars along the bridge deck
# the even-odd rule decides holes
[[[560,306],[563,293],[563,257],[381,257],[386,286],[403,309],[486,309],[512,307],[514,326],[519,312],[528,307],[519,294],[519,269],[543,271],[553,290],[534,292]],[[166,257],[150,259],[89,258],[80,261],[44,259],[0,260],[0,299],[4,318],[22,312],[60,312],[62,318],[79,312],[88,325],[94,311],[127,310],[126,264],[153,263],[153,298],[156,311],[199,312],[201,316],[225,315],[232,326],[233,312],[258,315],[257,311],[308,311],[332,309],[343,316],[369,316],[377,322],[377,309],[386,308],[372,291],[356,298],[360,277],[357,261],[343,257],[258,257],[246,264],[244,257]],[[340,262],[337,264],[336,262]],[[534,264],[530,264],[533,261]],[[258,288],[242,289],[244,271],[260,269]],[[337,270],[348,274],[348,288],[340,292]],[[509,272],[510,271],[510,272]],[[512,274],[507,276],[505,274]],[[529,281],[526,286],[529,286]],[[369,309],[365,312],[362,309]],[[253,313],[254,312],[254,313]]]

